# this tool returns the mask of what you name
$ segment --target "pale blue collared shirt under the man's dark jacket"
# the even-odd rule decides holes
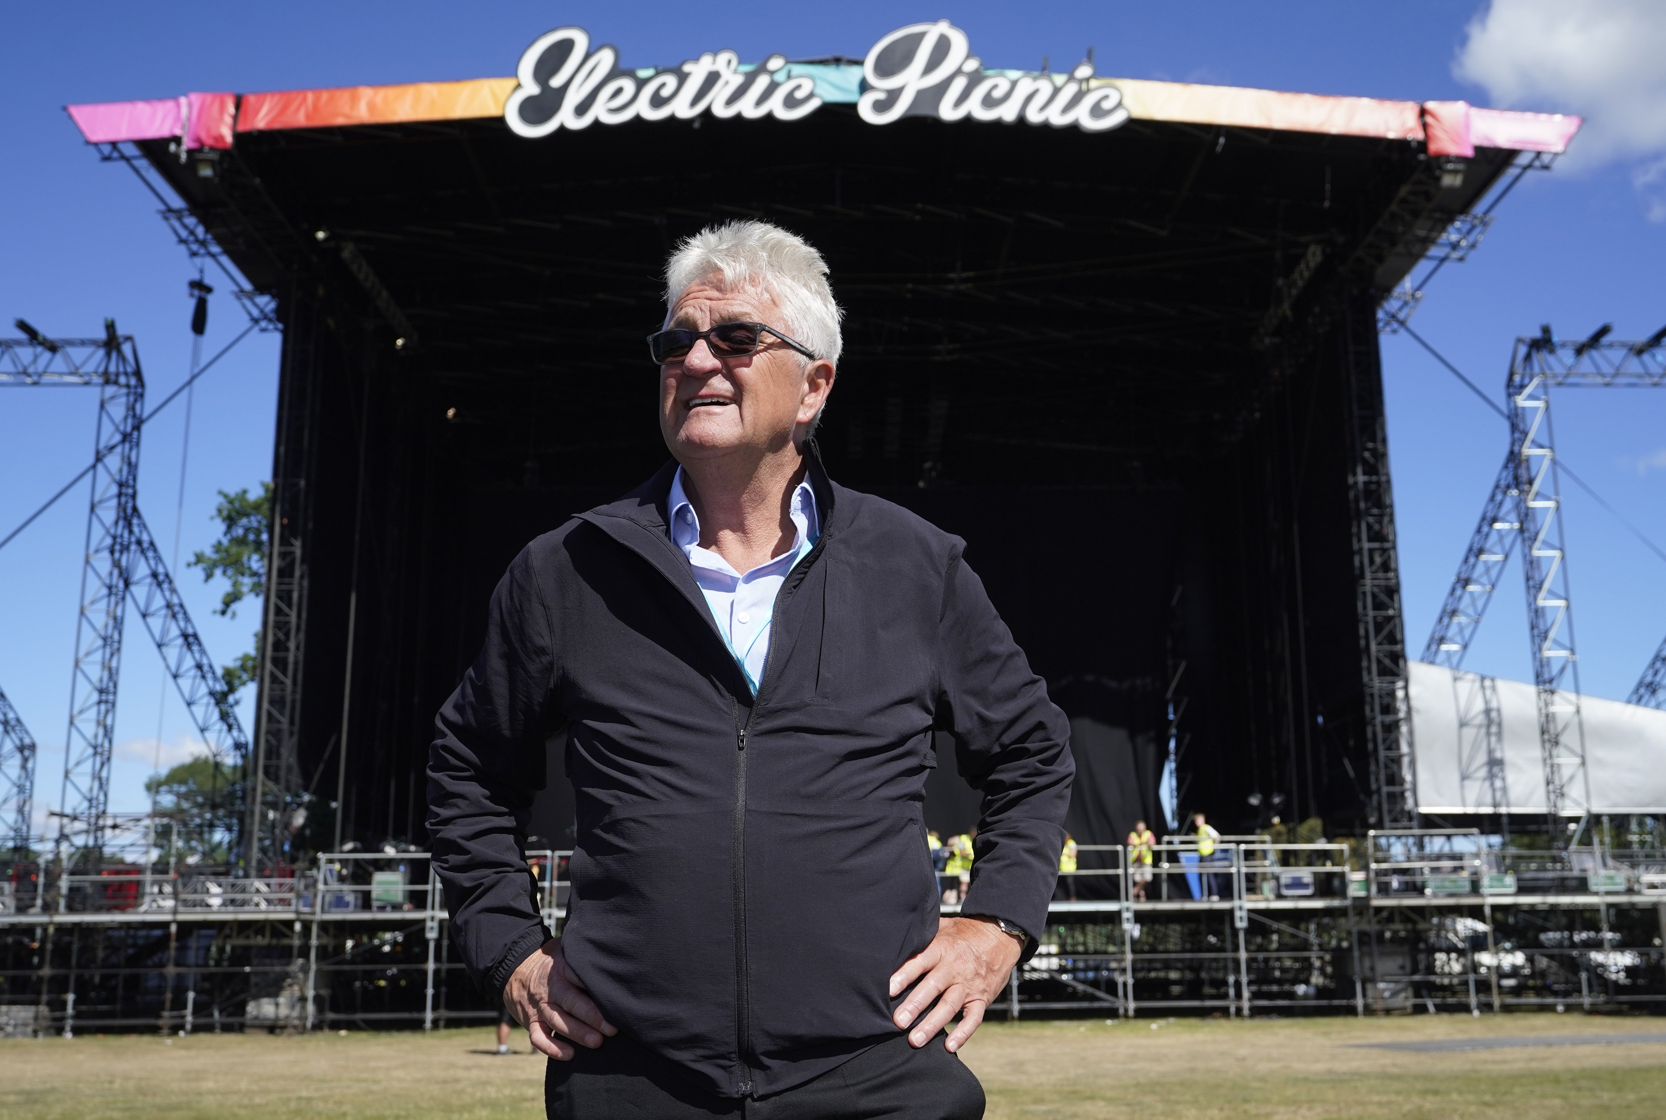
[[[683,551],[695,571],[695,582],[706,596],[718,632],[728,642],[730,652],[746,672],[753,694],[763,681],[763,666],[770,659],[770,629],[775,616],[775,596],[786,581],[786,572],[808,553],[821,536],[816,514],[816,493],[805,479],[793,491],[788,516],[798,533],[793,548],[771,561],[758,564],[750,572],[738,572],[730,562],[710,549],[700,548],[700,514],[695,513],[683,489],[683,468],[676,468],[671,494],[666,499],[671,513],[671,544]]]

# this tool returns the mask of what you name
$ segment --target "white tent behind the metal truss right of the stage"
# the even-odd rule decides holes
[[[1421,661],[1408,669],[1418,810],[1544,812],[1533,686]],[[1666,812],[1666,712],[1586,696],[1579,716],[1591,810]]]

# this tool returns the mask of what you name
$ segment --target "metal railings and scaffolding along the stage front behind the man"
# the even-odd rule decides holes
[[[1038,952],[990,1010],[1015,1017],[1066,1008],[1248,1015],[1351,1007],[1363,1013],[1366,1007],[1404,1010],[1413,1002],[1498,1010],[1666,1000],[1663,950],[1653,945],[1649,927],[1658,899],[1644,895],[1666,889],[1666,879],[1648,879],[1666,877],[1653,870],[1666,867],[1658,850],[1606,852],[1584,865],[1584,852],[1574,852],[1578,859],[1499,852],[1474,832],[1383,832],[1371,844],[1366,852],[1250,835],[1221,839],[1205,855],[1196,837],[1165,837],[1153,845],[1148,884],[1136,884],[1143,867],[1128,862],[1126,845],[1078,845],[1076,869],[1060,875],[1050,924],[1038,932]],[[1349,870],[1349,850],[1368,857],[1363,870]],[[551,929],[568,914],[570,857],[556,849],[526,852],[536,904]],[[1579,887],[1606,870],[1618,875],[1621,890],[1511,897],[1486,885],[1488,877],[1513,869],[1523,890],[1531,890],[1538,880],[1526,879],[1529,865],[1558,859],[1556,867],[1538,870],[1563,882],[1576,877]],[[45,914],[0,915],[0,925],[28,927],[8,934],[13,964],[5,967],[17,977],[8,980],[17,984],[12,990],[35,985],[28,989],[38,1010],[32,1022],[73,1030],[77,992],[87,1028],[100,1030],[158,1022],[190,1030],[193,1007],[197,1028],[210,1015],[217,1027],[302,1030],[355,1022],[433,1028],[496,1013],[471,989],[465,995],[458,987],[463,967],[445,937],[445,904],[426,852],[325,854],[310,869],[272,879],[238,879],[223,869],[152,869],[148,879],[145,869],[110,870],[117,874],[65,880],[80,910],[60,912],[62,892],[48,890],[30,892],[47,900]],[[1434,890],[1438,875],[1456,874],[1466,875],[1468,894]],[[1136,885],[1145,887],[1143,899]],[[87,912],[95,902],[112,909]],[[958,905],[941,905],[941,912],[955,914]],[[255,949],[237,949],[240,955],[228,960],[222,930],[238,922],[245,932],[232,944]],[[107,939],[103,927],[128,930],[130,939]],[[123,964],[137,959],[123,949],[128,944],[148,944],[150,960],[167,954],[167,980],[148,969],[157,1000],[180,977],[183,999],[172,1012],[162,1004],[160,1018],[153,1010],[120,1018],[110,1004],[110,985],[120,980],[100,975],[132,975],[133,990],[145,972]],[[48,960],[55,960],[50,969]],[[92,1007],[100,1017],[87,1015]],[[118,1017],[107,1018],[112,1013]]]

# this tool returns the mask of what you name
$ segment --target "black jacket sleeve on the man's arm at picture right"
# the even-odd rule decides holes
[[[1070,721],[958,551],[945,579],[938,666],[938,726],[955,736],[960,772],[983,794],[961,914],[1013,922],[1033,952],[1058,882],[1076,774]]]

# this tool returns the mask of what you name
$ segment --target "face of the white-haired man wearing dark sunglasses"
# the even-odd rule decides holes
[[[695,331],[713,323],[751,321],[788,330],[775,300],[760,291],[725,291],[721,278],[690,285],[666,326]],[[716,358],[698,339],[681,361],[660,366],[660,433],[680,463],[786,448],[796,424],[808,424],[833,388],[826,361],[803,368],[798,351],[763,336],[756,353]]]

